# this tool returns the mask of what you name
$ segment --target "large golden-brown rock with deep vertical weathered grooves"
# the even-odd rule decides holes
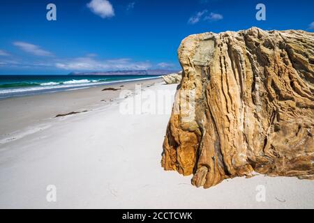
[[[314,178],[314,34],[245,31],[188,36],[177,91],[195,92],[186,118],[174,102],[162,166],[197,187],[225,178]]]

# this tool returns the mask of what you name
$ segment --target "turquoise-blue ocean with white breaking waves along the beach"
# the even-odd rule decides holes
[[[155,79],[160,75],[0,75],[0,98]]]

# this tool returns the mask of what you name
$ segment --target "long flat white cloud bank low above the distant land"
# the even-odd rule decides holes
[[[79,57],[70,61],[62,61],[56,63],[57,68],[63,70],[90,70],[90,71],[105,71],[105,70],[146,70],[151,67],[149,62],[134,62],[130,59],[112,59],[98,61],[91,57]]]

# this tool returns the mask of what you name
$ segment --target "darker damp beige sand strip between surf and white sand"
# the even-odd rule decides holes
[[[38,126],[45,128],[59,114],[85,110],[91,112],[101,107],[110,107],[115,100],[119,99],[121,91],[102,91],[108,86],[134,92],[135,84],[142,84],[142,86],[147,87],[149,84],[159,82],[162,82],[161,78],[140,79],[73,91],[57,91],[0,99],[0,146],[7,141],[20,139],[19,135],[23,135],[24,132],[34,132],[33,128]]]

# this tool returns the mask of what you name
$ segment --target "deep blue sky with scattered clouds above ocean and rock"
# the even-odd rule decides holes
[[[46,6],[57,6],[47,21]],[[266,20],[257,21],[257,3]],[[183,38],[207,31],[314,30],[314,2],[223,0],[2,0],[0,74],[179,69]]]

